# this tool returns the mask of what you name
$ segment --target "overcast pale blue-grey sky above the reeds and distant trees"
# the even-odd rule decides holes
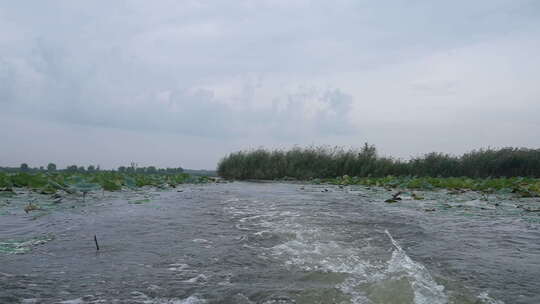
[[[0,0],[0,166],[540,147],[540,1]]]

